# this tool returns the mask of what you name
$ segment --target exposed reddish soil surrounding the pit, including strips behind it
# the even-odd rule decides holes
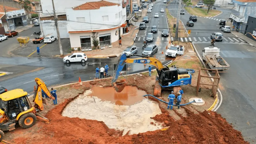
[[[69,118],[61,115],[66,105],[74,100],[79,95],[79,92],[91,89],[92,85],[108,87],[110,86],[110,80],[95,80],[85,82],[83,85],[73,84],[57,88],[61,92],[61,94],[57,93],[59,104],[55,108],[53,108],[53,105],[45,106],[44,111],[47,112],[45,116],[50,118],[52,122],[44,124],[44,122],[37,121],[33,127],[26,130],[17,127],[16,130],[6,133],[5,140],[17,144],[247,143],[244,141],[241,132],[234,130],[232,125],[228,124],[219,114],[208,111],[195,114],[195,112],[198,113],[197,110],[190,106],[181,107],[181,109],[174,108],[174,110],[170,111],[166,110],[167,105],[164,104],[165,107],[160,107],[162,114],[156,115],[153,119],[163,122],[163,126],[170,126],[169,128],[133,135],[126,134],[123,137],[121,136],[122,131],[109,129],[103,122]],[[127,81],[128,85],[134,86],[136,84],[138,89],[144,90],[148,94],[153,94],[154,76],[132,75],[127,77]],[[185,94],[187,93],[185,87],[184,92]],[[67,99],[67,97],[69,98]],[[164,99],[163,95],[162,98]],[[170,116],[171,113],[176,114],[179,120]]]

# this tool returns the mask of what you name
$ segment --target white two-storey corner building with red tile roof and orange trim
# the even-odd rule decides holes
[[[66,14],[71,48],[92,48],[93,32],[100,47],[114,46],[126,25],[126,8],[103,0],[66,8]]]

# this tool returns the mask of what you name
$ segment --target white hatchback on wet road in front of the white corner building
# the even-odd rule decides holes
[[[70,54],[69,56],[65,56],[63,58],[63,62],[70,63],[70,62],[86,62],[87,57],[84,53],[82,52],[75,52]]]

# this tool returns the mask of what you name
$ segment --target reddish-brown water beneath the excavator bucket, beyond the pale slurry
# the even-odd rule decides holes
[[[125,86],[122,92],[116,92],[113,87],[93,86],[90,96],[98,97],[101,100],[110,101],[116,105],[133,105],[138,101],[145,99],[145,91],[138,90],[135,86]]]

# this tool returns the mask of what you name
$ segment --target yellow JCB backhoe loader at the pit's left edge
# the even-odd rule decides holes
[[[20,127],[27,129],[36,123],[36,119],[40,119],[46,124],[51,122],[50,119],[39,114],[40,111],[44,110],[42,90],[50,99],[55,100],[55,98],[40,78],[36,77],[35,81],[34,106],[28,100],[28,93],[22,89],[15,89],[0,94],[0,141],[4,138],[3,131],[14,130],[16,123]]]

